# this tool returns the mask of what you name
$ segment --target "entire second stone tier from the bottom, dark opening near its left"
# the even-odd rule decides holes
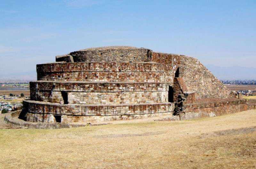
[[[167,83],[88,83],[88,82],[30,82],[30,98],[53,103],[64,102],[62,92],[67,92],[72,104],[139,104],[168,101]]]

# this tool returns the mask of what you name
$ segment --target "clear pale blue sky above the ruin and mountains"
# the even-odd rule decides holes
[[[0,0],[0,73],[127,45],[256,68],[256,1]]]

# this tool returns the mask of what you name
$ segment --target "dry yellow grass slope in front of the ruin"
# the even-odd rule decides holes
[[[253,168],[256,111],[190,121],[0,130],[0,168]]]

